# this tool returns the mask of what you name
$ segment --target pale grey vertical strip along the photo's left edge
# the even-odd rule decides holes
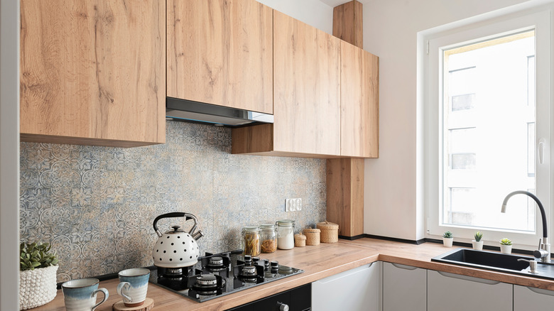
[[[0,310],[19,310],[19,1],[0,0]]]

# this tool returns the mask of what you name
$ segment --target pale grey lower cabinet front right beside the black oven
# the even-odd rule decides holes
[[[314,311],[379,311],[381,261],[312,283]]]

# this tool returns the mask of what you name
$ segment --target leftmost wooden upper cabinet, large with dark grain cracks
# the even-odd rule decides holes
[[[165,1],[21,0],[21,141],[165,142]]]

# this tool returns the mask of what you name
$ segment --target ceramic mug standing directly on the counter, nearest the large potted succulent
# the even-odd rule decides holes
[[[92,311],[109,297],[106,288],[98,288],[97,278],[70,280],[62,284],[63,301],[67,311]],[[104,299],[96,303],[98,292],[104,293]]]

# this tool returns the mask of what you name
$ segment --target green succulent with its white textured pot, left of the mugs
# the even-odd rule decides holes
[[[49,253],[48,243],[21,243],[19,246],[19,306],[31,309],[56,297],[58,259]]]

